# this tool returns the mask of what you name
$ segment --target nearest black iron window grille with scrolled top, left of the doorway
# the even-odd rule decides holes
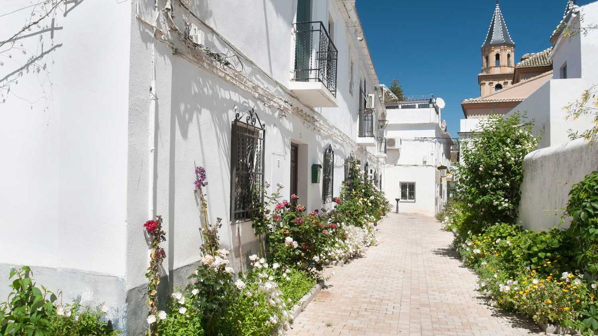
[[[251,109],[237,113],[231,130],[231,219],[254,215],[263,200],[265,125]]]

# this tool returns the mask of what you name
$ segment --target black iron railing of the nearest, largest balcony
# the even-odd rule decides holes
[[[324,23],[295,23],[294,81],[319,81],[336,97],[338,51]]]

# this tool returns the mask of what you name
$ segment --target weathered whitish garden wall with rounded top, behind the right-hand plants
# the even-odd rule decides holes
[[[518,224],[545,230],[561,222],[573,184],[598,169],[598,143],[583,139],[538,149],[523,161],[524,178]],[[569,220],[563,222],[569,227]]]

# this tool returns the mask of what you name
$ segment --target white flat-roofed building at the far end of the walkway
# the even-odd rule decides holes
[[[385,180],[383,188],[398,211],[435,215],[447,200],[451,136],[441,118],[444,102],[418,97],[387,103]]]

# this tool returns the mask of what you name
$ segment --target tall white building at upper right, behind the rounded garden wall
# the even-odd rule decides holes
[[[593,126],[592,115],[567,119],[565,106],[598,84],[598,29],[591,28],[596,25],[598,2],[577,6],[569,0],[562,22],[550,37],[552,78],[509,112],[526,111],[529,120],[535,121],[533,133],[542,134],[539,148],[568,142],[570,130],[581,133]]]

